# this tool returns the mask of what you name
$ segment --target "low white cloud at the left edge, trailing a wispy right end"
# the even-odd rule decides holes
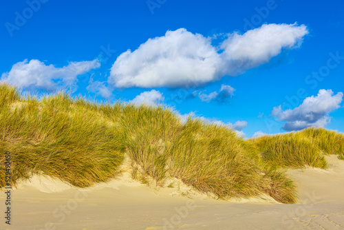
[[[27,90],[41,89],[47,91],[59,90],[74,85],[77,76],[100,67],[98,60],[71,62],[64,67],[54,67],[32,59],[27,59],[12,66],[10,72],[1,75],[1,81],[15,84]]]

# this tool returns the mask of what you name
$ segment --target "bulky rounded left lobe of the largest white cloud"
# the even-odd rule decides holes
[[[185,29],[167,31],[118,56],[109,83],[116,87],[184,87],[213,81],[221,61],[211,39]]]

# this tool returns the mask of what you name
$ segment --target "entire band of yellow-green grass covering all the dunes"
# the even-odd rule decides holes
[[[297,188],[281,168],[326,168],[323,151],[343,152],[342,134],[326,129],[245,140],[197,118],[182,124],[161,106],[97,104],[63,93],[23,98],[6,84],[0,85],[0,109],[0,187],[6,151],[14,184],[45,174],[78,187],[114,178],[127,155],[141,182],[164,186],[178,178],[222,199],[268,194],[293,203]]]

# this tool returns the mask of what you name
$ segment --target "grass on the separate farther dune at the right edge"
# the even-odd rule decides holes
[[[251,138],[261,159],[270,167],[327,168],[324,155],[336,154],[343,160],[344,134],[325,128],[309,127],[299,132]]]

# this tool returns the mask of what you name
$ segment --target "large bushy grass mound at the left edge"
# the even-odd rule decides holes
[[[9,91],[2,85],[0,152],[11,152],[14,185],[20,178],[45,174],[87,187],[118,173],[125,151],[122,131],[101,118],[100,111],[76,106],[66,94],[37,101],[20,99],[19,92],[4,95]],[[0,187],[5,183],[4,160],[1,154]]]

